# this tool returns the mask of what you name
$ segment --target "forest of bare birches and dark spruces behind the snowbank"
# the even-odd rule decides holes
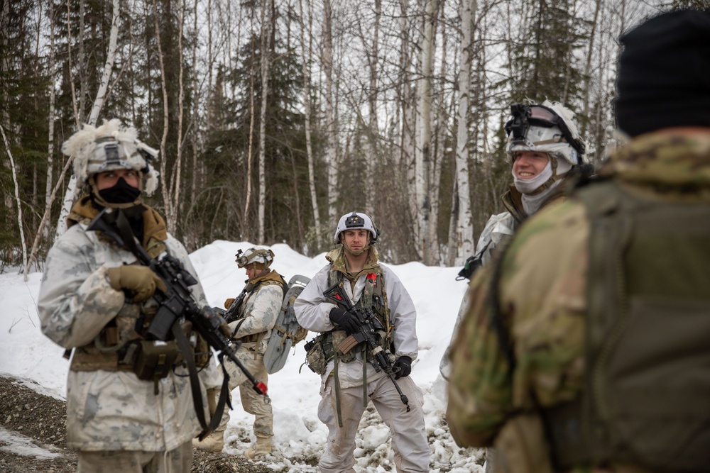
[[[75,189],[61,143],[121,118],[148,204],[213,240],[332,247],[365,211],[388,262],[460,265],[510,178],[510,104],[616,145],[618,37],[709,0],[0,0],[0,272],[41,269]],[[63,196],[63,199],[62,199]]]

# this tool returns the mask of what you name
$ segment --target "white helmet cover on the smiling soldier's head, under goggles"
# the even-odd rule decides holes
[[[531,105],[534,106],[534,105]],[[584,144],[579,136],[579,130],[577,130],[577,125],[574,123],[574,112],[569,110],[569,108],[559,104],[557,102],[551,102],[545,100],[542,102],[542,106],[550,108],[553,112],[562,118],[562,121],[567,126],[569,133],[572,134],[574,140],[579,140],[580,143]],[[513,140],[513,133],[508,135],[508,156],[513,157],[513,153],[517,151],[537,151],[545,152],[549,155],[557,157],[557,159],[562,159],[569,162],[570,165],[576,166],[580,165],[585,161],[585,155],[579,155],[579,152],[574,149],[574,147],[564,140],[562,135],[562,130],[557,126],[544,127],[535,126],[530,124],[528,132],[525,133],[525,141]]]

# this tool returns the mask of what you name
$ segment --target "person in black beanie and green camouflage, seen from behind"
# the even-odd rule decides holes
[[[603,182],[537,213],[501,261],[471,282],[471,304],[452,350],[447,419],[459,445],[496,447],[496,471],[700,472],[710,464],[709,416],[698,401],[710,394],[704,381],[710,373],[705,361],[693,364],[696,356],[707,359],[710,345],[704,335],[697,346],[679,349],[673,340],[682,328],[672,325],[688,323],[678,317],[693,311],[703,323],[710,310],[706,219],[680,229],[664,224],[710,211],[709,35],[710,13],[679,11],[623,36],[616,115],[633,140],[601,167]],[[672,208],[664,223],[643,221],[643,212],[658,207]],[[612,213],[629,218],[603,228]],[[650,228],[650,235],[634,233],[625,226],[630,221]],[[617,236],[630,238],[623,251]],[[692,254],[684,255],[693,238]],[[648,247],[657,251],[645,253]],[[600,274],[618,277],[616,287],[606,288]],[[612,324],[616,313],[626,322]],[[651,318],[658,313],[665,317]],[[675,330],[648,328],[664,320]],[[633,330],[624,332],[627,326]],[[616,345],[611,333],[619,337]],[[590,340],[604,340],[612,350],[595,352]],[[665,343],[672,349],[662,351]],[[642,362],[611,373],[626,357],[616,352],[642,350],[650,353]],[[656,382],[631,379],[638,372],[655,375],[672,356],[677,366]],[[674,377],[684,375],[675,389]],[[614,383],[646,389],[635,398],[628,389],[614,391]],[[652,404],[656,391],[667,397]],[[597,404],[600,399],[606,404]],[[682,406],[684,399],[689,405]],[[666,415],[665,404],[676,410]],[[616,410],[619,405],[626,411]]]

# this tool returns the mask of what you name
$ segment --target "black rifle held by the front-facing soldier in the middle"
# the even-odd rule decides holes
[[[344,306],[345,310],[356,316],[360,323],[358,331],[343,340],[342,343],[338,345],[338,350],[342,353],[347,353],[357,345],[366,343],[367,347],[372,350],[372,360],[370,360],[370,364],[376,372],[384,371],[387,374],[392,384],[395,385],[402,404],[407,406],[407,412],[409,412],[409,399],[407,399],[407,396],[402,392],[402,389],[400,389],[399,384],[397,384],[395,380],[395,374],[397,374],[398,369],[393,367],[393,362],[395,361],[394,355],[392,355],[389,350],[383,350],[379,340],[377,340],[377,331],[385,330],[385,328],[380,321],[377,320],[372,308],[354,306],[339,283],[333,284],[332,287],[326,289],[323,295],[335,304]]]

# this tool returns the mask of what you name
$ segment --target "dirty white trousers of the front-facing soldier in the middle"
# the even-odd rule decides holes
[[[318,406],[318,417],[329,430],[326,452],[318,467],[322,473],[354,472],[355,437],[364,411],[362,386],[340,390],[343,426],[339,428],[334,382],[328,381]],[[422,390],[410,377],[399,379],[398,384],[409,399],[410,412],[388,377],[369,382],[368,396],[390,428],[398,473],[428,473],[431,449],[422,411]]]

